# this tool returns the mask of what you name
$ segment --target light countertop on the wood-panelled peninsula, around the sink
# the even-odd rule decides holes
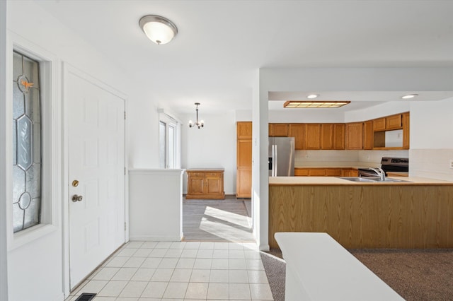
[[[310,186],[310,185],[452,185],[453,182],[442,181],[440,179],[428,179],[423,177],[389,177],[391,179],[401,179],[409,182],[352,182],[338,177],[269,177],[269,186]]]

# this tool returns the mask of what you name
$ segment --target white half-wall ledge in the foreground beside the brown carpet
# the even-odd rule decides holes
[[[403,300],[327,233],[275,233],[286,261],[285,300]]]

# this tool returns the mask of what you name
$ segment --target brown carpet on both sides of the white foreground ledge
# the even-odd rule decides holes
[[[408,301],[453,300],[453,249],[350,249]],[[285,300],[285,263],[280,249],[262,253],[275,301]]]

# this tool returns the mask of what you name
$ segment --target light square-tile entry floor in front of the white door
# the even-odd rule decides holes
[[[129,242],[67,298],[95,301],[273,300],[260,253],[246,242]]]

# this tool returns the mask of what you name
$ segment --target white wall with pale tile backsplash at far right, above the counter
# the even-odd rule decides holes
[[[453,181],[453,98],[411,102],[410,175]]]

